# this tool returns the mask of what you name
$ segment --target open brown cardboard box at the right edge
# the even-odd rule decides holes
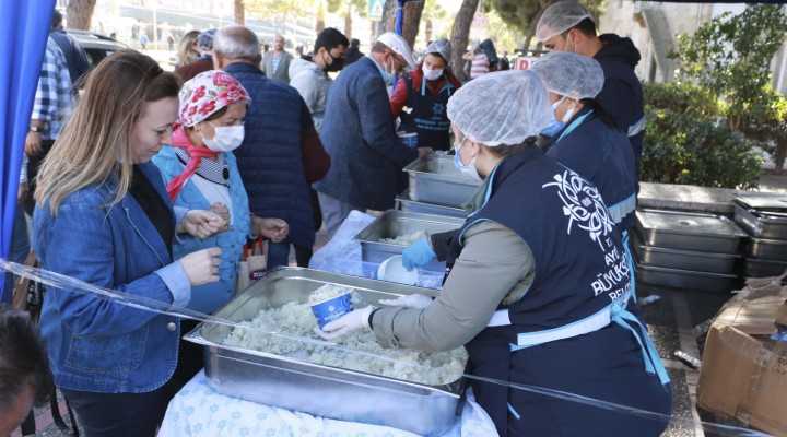
[[[736,297],[710,326],[697,403],[728,418],[787,437],[787,343],[768,339],[787,317],[787,287]]]

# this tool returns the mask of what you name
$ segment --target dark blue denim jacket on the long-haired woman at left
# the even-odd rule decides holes
[[[172,210],[153,164],[142,173]],[[42,268],[94,285],[185,305],[190,283],[131,194],[114,206],[116,182],[87,186],[68,196],[57,215],[48,203],[33,214],[33,247]],[[172,210],[179,221],[180,214]],[[140,393],[155,390],[177,363],[178,318],[47,288],[40,330],[55,383],[71,390]]]

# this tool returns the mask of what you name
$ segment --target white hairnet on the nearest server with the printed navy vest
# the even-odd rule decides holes
[[[552,114],[547,90],[528,70],[483,74],[448,99],[454,125],[488,146],[521,144],[549,126]]]

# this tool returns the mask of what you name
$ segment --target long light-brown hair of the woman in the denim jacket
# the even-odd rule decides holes
[[[129,143],[134,123],[145,104],[177,97],[183,82],[174,73],[136,50],[120,50],[103,60],[87,79],[84,95],[51,152],[42,164],[35,200],[49,201],[57,215],[63,200],[78,190],[117,179],[118,203],[131,185],[132,158]],[[108,199],[107,199],[108,200]]]

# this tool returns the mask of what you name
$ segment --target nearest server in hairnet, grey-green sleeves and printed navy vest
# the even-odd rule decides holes
[[[448,102],[457,167],[485,178],[450,241],[439,296],[360,308],[327,339],[372,329],[380,344],[466,345],[470,373],[669,414],[671,389],[647,332],[623,308],[625,251],[598,189],[533,144],[550,122],[533,72],[484,74]],[[505,121],[505,122],[502,122]],[[501,436],[656,436],[666,423],[471,380]]]

